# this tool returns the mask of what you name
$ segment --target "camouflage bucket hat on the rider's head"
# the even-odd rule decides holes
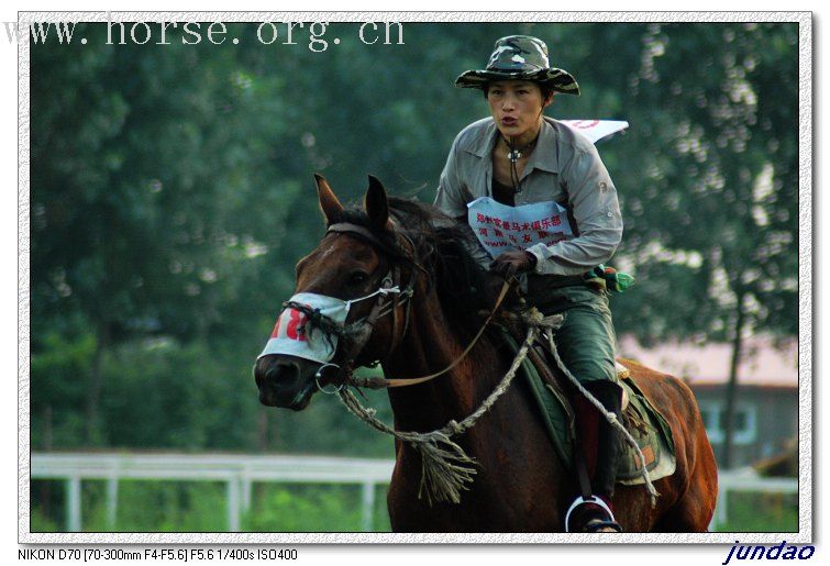
[[[455,79],[461,88],[484,89],[494,80],[530,80],[565,95],[579,95],[579,85],[566,70],[551,67],[547,45],[530,35],[510,35],[496,42],[484,70],[466,70]]]

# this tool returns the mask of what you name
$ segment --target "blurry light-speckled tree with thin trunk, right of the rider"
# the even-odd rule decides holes
[[[648,315],[663,311],[661,337],[732,343],[730,467],[745,337],[797,333],[798,26],[653,25],[642,42],[624,253],[654,301]]]

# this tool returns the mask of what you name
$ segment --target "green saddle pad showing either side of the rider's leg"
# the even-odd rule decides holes
[[[519,345],[507,332],[501,333],[505,343],[511,353],[519,352]],[[674,439],[668,423],[663,415],[654,409],[637,384],[628,378],[628,369],[618,365],[620,371],[620,385],[626,389],[629,397],[629,406],[623,411],[621,422],[634,437],[645,456],[646,469],[652,481],[674,474],[676,460],[674,455]],[[556,389],[544,382],[535,366],[529,358],[524,358],[519,368],[523,379],[535,399],[540,409],[540,415],[544,422],[547,434],[553,442],[556,455],[569,467],[574,467],[574,444],[576,439],[576,423],[568,418],[565,408],[571,407],[571,401],[564,398]],[[640,459],[634,448],[620,437],[623,452],[617,469],[617,482],[623,485],[644,484],[640,474]]]

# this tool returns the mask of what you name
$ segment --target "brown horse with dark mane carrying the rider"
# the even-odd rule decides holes
[[[297,292],[339,299],[374,296],[388,287],[411,287],[411,298],[388,301],[363,341],[343,336],[339,365],[380,360],[384,373],[413,378],[456,360],[493,308],[489,289],[500,280],[479,268],[467,249],[471,231],[435,208],[387,198],[370,177],[364,210],[344,209],[322,177],[320,207],[330,226],[320,245],[297,265]],[[342,229],[348,226],[348,229]],[[339,229],[341,227],[341,229]],[[378,298],[380,296],[378,295]],[[370,317],[378,302],[357,302],[348,321]],[[484,314],[482,314],[484,313]],[[310,313],[309,313],[310,314]],[[377,314],[376,312],[374,314]],[[512,355],[487,333],[444,375],[388,389],[395,430],[428,432],[461,421],[490,395]],[[702,532],[715,510],[717,470],[691,391],[679,379],[622,360],[637,385],[665,415],[674,435],[676,471],[655,481],[652,507],[643,486],[619,485],[617,520],[628,532]],[[259,400],[305,409],[319,387],[321,363],[265,355],[254,368]],[[396,466],[387,504],[396,532],[562,532],[565,510],[578,495],[577,480],[555,455],[529,387],[517,379],[468,431],[454,439],[478,464],[461,502],[419,498],[421,456],[396,441]]]

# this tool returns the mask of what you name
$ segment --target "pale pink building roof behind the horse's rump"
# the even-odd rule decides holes
[[[729,380],[732,345],[710,343],[697,345],[690,342],[665,343],[644,348],[633,336],[619,339],[619,356],[640,362],[660,371],[686,379],[689,385],[717,385]],[[773,340],[752,336],[744,346],[744,359],[738,369],[741,385],[797,387],[798,344],[787,343],[776,349]]]

